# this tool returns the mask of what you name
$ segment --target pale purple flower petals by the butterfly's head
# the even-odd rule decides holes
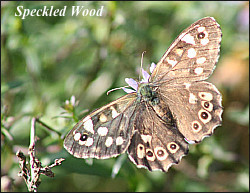
[[[156,64],[152,63],[150,66],[150,72],[152,73],[155,69]],[[147,83],[149,81],[150,75],[142,68],[142,76],[143,79],[140,81],[140,83]],[[125,82],[133,89],[129,88],[122,88],[126,93],[133,93],[137,92],[138,89],[138,82],[136,82],[133,78],[125,78]]]

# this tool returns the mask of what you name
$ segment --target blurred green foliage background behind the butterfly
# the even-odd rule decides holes
[[[62,17],[15,16],[17,6],[62,9]],[[71,16],[72,6],[99,9],[102,17]],[[209,81],[223,95],[223,125],[167,173],[138,169],[126,154],[82,160],[62,147],[76,118],[124,95],[124,79],[138,79],[157,63],[191,23],[212,16],[221,25],[221,56]],[[15,156],[29,146],[31,118],[40,116],[61,133],[37,125],[42,164],[66,158],[42,176],[39,191],[249,191],[249,2],[1,2],[2,191],[27,191]],[[65,103],[75,96],[79,105]],[[72,102],[72,101],[71,101]],[[67,112],[67,114],[62,114]],[[71,113],[70,113],[71,112]],[[67,117],[65,118],[65,115]],[[120,167],[120,169],[119,169]],[[115,170],[119,172],[116,173]],[[113,176],[113,177],[112,177]],[[6,183],[7,181],[7,183]]]

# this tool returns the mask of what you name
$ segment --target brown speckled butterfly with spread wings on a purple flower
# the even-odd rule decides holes
[[[105,159],[128,152],[137,167],[167,171],[221,124],[221,94],[206,80],[219,58],[221,29],[206,17],[171,44],[151,76],[125,81],[127,95],[81,119],[64,140],[77,158]]]

